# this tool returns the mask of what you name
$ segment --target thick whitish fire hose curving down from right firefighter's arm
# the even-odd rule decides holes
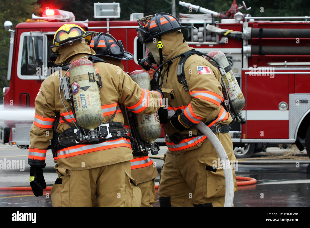
[[[169,111],[168,112],[168,119],[170,119],[175,112]],[[215,134],[210,130],[206,124],[202,123],[201,121],[195,126],[198,130],[205,134],[208,137],[212,145],[214,146],[217,154],[219,155],[219,159],[223,163],[224,169],[224,177],[225,177],[225,202],[224,207],[232,207],[233,204],[233,193],[234,193],[234,183],[233,183],[233,176],[232,176],[232,169],[230,161],[228,160],[228,156],[226,151],[224,150],[223,145],[219,141],[219,139],[215,136]]]

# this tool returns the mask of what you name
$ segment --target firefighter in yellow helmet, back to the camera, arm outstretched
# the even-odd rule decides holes
[[[58,55],[55,64],[62,65],[60,78],[68,76],[70,63],[79,62],[75,60],[88,58],[94,62],[97,74],[93,78],[88,80],[87,72],[80,73],[81,77],[86,74],[90,83],[100,84],[102,76],[103,85],[97,99],[106,128],[93,130],[98,141],[91,142],[94,135],[79,126],[75,120],[76,108],[65,101],[64,92],[60,90],[59,72],[45,79],[35,99],[35,118],[30,131],[30,186],[36,196],[42,196],[46,187],[43,177],[46,151],[49,140],[56,139],[53,154],[58,178],[51,190],[53,206],[93,206],[95,200],[98,206],[140,206],[141,191],[131,177],[131,143],[123,127],[119,104],[133,112],[152,114],[159,107],[150,107],[143,99],[161,98],[161,91],[141,89],[129,75],[119,72],[117,66],[94,61],[95,51],[89,47],[91,38],[92,35],[86,34],[78,25],[63,25],[56,31],[51,50]],[[73,84],[69,85],[73,94],[88,90],[87,86]],[[88,101],[92,104],[93,100]],[[78,134],[77,130],[85,133]],[[101,137],[99,131],[106,138]]]

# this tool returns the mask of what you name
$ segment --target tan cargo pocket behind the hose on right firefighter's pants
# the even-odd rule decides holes
[[[228,160],[231,161],[233,150],[227,153]],[[225,195],[224,169],[221,167],[218,156],[208,156],[198,158],[201,165],[203,195],[206,198],[219,197]],[[232,165],[231,165],[232,166]],[[236,180],[235,171],[232,169],[234,182]],[[235,188],[237,188],[236,182]],[[236,190],[235,190],[236,191]]]

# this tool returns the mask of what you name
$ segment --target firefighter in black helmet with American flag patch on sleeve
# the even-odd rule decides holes
[[[181,56],[176,56],[191,48],[178,30],[191,26],[182,26],[168,13],[138,19],[138,24],[139,41],[145,43],[157,65],[167,61],[161,71],[161,88],[168,99],[168,111],[175,112],[168,121],[168,111],[158,111],[168,147],[158,189],[160,206],[224,206],[224,171],[220,164],[213,168],[219,156],[195,127],[199,121],[206,123],[222,143],[228,160],[236,159],[229,134],[232,117],[221,105],[219,70],[202,56],[191,55],[184,63],[185,78],[181,78]],[[237,191],[234,170],[232,173]]]

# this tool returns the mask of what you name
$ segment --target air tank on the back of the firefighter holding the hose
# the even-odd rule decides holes
[[[236,111],[236,118],[237,121],[241,124],[246,123],[245,118],[242,118],[241,116],[241,110],[246,105],[246,100],[243,96],[243,93],[241,92],[240,86],[237,82],[237,79],[235,75],[232,72],[232,68],[228,63],[228,60],[222,51],[210,51],[207,55],[214,58],[220,65],[223,65],[224,70],[226,72],[222,75],[224,79],[224,84],[227,90],[227,94],[230,98],[231,105]],[[212,61],[210,58],[206,57],[206,60],[210,61],[211,64],[215,64],[214,61]],[[215,64],[216,65],[216,64]],[[217,67],[217,66],[216,66]]]

